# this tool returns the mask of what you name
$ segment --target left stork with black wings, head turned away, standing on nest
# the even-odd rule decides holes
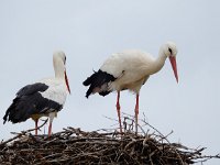
[[[12,105],[8,108],[3,117],[3,123],[6,121],[18,123],[32,118],[35,121],[35,135],[37,135],[38,119],[41,117],[48,117],[50,136],[53,119],[62,110],[66,101],[67,91],[70,94],[65,64],[66,56],[64,52],[55,52],[53,55],[55,77],[42,79],[21,88],[16,92]]]

